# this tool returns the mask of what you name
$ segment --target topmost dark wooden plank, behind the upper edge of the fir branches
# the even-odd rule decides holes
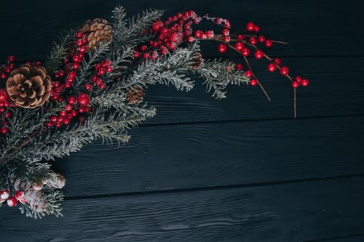
[[[86,19],[110,17],[117,4],[130,15],[146,8],[166,10],[166,16],[194,9],[201,15],[229,18],[233,31],[255,21],[272,39],[288,41],[277,46],[274,55],[364,55],[364,30],[361,28],[363,3],[342,1],[5,1],[0,21],[4,37],[0,40],[1,59],[16,55],[20,59],[43,59],[51,41]],[[19,7],[21,6],[21,7]],[[343,16],[345,18],[339,18]],[[211,28],[211,27],[209,27]],[[216,55],[216,45],[207,46],[207,55]]]

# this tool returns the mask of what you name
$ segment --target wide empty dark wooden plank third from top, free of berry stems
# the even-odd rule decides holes
[[[54,162],[67,196],[364,174],[364,117],[139,127]]]

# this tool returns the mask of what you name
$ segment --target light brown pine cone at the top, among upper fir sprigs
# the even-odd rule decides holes
[[[106,19],[88,20],[80,31],[87,37],[89,50],[112,38],[112,28]]]

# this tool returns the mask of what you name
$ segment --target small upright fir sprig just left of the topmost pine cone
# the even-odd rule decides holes
[[[44,62],[44,68],[46,68],[48,73],[53,73],[62,64],[62,59],[64,59],[67,55],[67,45],[71,41],[75,32],[75,30],[69,30],[67,34],[60,37],[59,44],[57,44],[57,42],[53,42],[51,53],[46,57],[46,61]]]

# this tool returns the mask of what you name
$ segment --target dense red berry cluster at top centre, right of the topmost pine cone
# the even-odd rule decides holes
[[[192,10],[179,12],[173,17],[168,17],[167,21],[155,21],[150,30],[155,37],[148,42],[148,45],[135,50],[134,57],[157,59],[160,54],[166,55],[168,50],[175,50],[182,41],[192,42],[194,38],[191,36],[191,25],[199,22],[200,18]]]

